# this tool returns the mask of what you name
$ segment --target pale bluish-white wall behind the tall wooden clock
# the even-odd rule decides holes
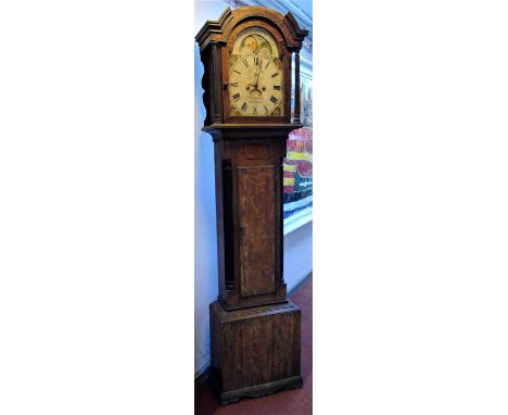
[[[196,1],[194,33],[207,20],[217,20],[229,1]],[[312,55],[302,51],[302,59]],[[209,363],[208,304],[218,294],[217,243],[215,217],[214,149],[212,137],[201,131],[205,118],[198,45],[194,43],[194,370],[199,374]],[[312,222],[284,237],[284,279],[291,290],[313,269]]]

